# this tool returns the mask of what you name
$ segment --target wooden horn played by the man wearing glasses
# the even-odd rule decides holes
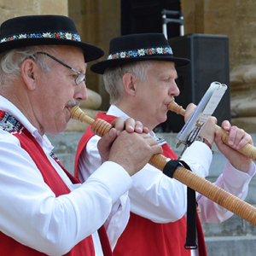
[[[91,119],[77,106],[71,109],[71,118],[79,119],[81,122],[91,125],[91,131],[100,137],[104,136],[112,128],[112,125],[105,120]],[[163,171],[168,160],[169,159],[162,154],[154,154],[149,160],[149,164],[158,168],[160,171]],[[205,195],[210,200],[218,203],[221,207],[224,207],[230,212],[235,213],[237,216],[247,220],[247,222],[256,225],[255,207],[242,201],[240,198],[230,194],[224,189],[219,188],[215,184],[210,183],[205,178],[200,177],[184,167],[177,168],[173,174],[173,178],[199,192],[201,195]]]

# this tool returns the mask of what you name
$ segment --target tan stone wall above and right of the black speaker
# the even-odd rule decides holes
[[[230,38],[230,70],[255,63],[254,0],[181,0],[181,6],[185,34],[224,34]]]

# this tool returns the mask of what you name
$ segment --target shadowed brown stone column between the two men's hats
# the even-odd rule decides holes
[[[119,0],[69,0],[68,15],[78,26],[82,40],[94,44],[105,51],[107,58],[109,41],[120,35],[121,17]],[[90,72],[92,61],[88,64],[86,86],[102,96],[102,110],[108,110],[109,96],[101,75]]]

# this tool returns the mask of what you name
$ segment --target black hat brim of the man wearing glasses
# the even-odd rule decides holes
[[[95,45],[59,38],[23,38],[22,40],[3,42],[0,44],[0,53],[10,49],[36,45],[70,45],[79,47],[84,52],[85,62],[95,61],[104,55],[104,51]]]

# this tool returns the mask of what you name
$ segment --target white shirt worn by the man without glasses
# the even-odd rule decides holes
[[[108,109],[108,114],[124,119],[129,118],[114,105]],[[150,134],[155,137],[153,131]],[[81,154],[79,165],[87,166],[83,168],[83,172],[79,172],[79,177],[82,180],[86,180],[100,162],[96,147],[98,140],[98,136],[92,137],[86,146],[86,152]],[[189,165],[193,172],[201,177],[207,177],[212,162],[212,151],[207,144],[195,142],[185,150],[182,160]],[[247,195],[248,183],[254,174],[254,165],[248,173],[244,173],[236,170],[228,162],[215,184],[244,200]],[[149,164],[144,166],[142,171],[132,176],[132,183],[132,188],[129,190],[131,212],[155,223],[174,222],[186,214],[186,186],[174,178],[167,177],[154,166]],[[233,215],[232,212],[218,206],[205,196],[198,195],[197,201],[201,207],[202,222],[220,223]],[[198,255],[198,251],[191,250],[191,254]]]

